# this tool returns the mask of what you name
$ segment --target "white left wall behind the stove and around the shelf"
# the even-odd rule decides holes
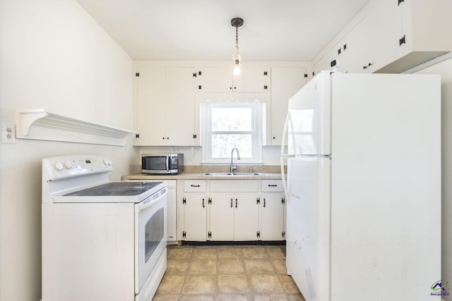
[[[44,108],[131,129],[132,60],[75,0],[0,0],[0,118]],[[41,159],[103,154],[111,180],[138,168],[131,147],[16,140],[0,144],[0,300],[41,297]]]

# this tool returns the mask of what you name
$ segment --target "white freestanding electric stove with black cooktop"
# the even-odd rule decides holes
[[[111,182],[104,156],[42,160],[42,301],[149,301],[165,273],[165,182]]]

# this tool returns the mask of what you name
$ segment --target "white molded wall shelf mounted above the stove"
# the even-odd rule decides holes
[[[131,130],[49,113],[44,109],[16,112],[16,138],[78,142],[95,145],[126,145]]]

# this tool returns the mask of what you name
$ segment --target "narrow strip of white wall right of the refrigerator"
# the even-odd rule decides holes
[[[442,160],[442,275],[444,282],[452,283],[452,54],[449,59],[439,63],[427,63],[415,68],[416,73],[441,74],[441,160]],[[432,65],[432,66],[430,66]],[[452,288],[449,286],[449,293]],[[444,300],[452,300],[452,295],[444,296]]]

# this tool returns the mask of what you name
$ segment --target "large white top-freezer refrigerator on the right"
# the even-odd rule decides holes
[[[439,300],[439,75],[323,71],[285,132],[287,274],[305,299]]]

